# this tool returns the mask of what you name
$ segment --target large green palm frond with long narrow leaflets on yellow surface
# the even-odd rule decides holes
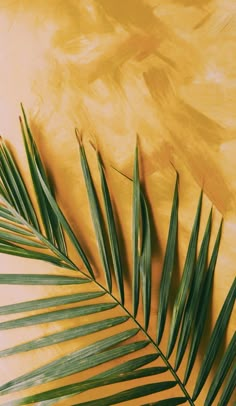
[[[130,310],[126,303],[129,287],[125,285],[116,216],[99,152],[96,151],[102,202],[98,198],[82,136],[76,131],[105,283],[95,277],[96,273],[89,258],[56,202],[53,187],[23,107],[22,114],[21,129],[31,180],[37,197],[37,207],[32,203],[11,150],[1,139],[0,252],[47,261],[64,268],[64,273],[67,270],[68,275],[1,273],[0,284],[55,285],[60,289],[61,294],[1,306],[0,316],[4,316],[4,319],[0,321],[0,330],[14,329],[15,331],[20,327],[27,328],[69,319],[73,319],[73,327],[3,348],[0,351],[0,358],[17,356],[17,354],[40,348],[50,348],[70,340],[77,340],[75,342],[78,346],[55,360],[43,361],[42,365],[33,371],[29,368],[23,375],[4,382],[0,387],[1,404],[5,406],[52,405],[63,400],[70,405],[109,406],[140,399],[139,404],[146,406],[195,405],[198,404],[197,399],[204,387],[205,405],[214,405],[215,399],[219,399],[220,406],[227,406],[236,381],[235,334],[225,353],[222,356],[219,353],[235,302],[235,280],[209,337],[200,369],[194,370],[210,309],[210,296],[222,230],[221,222],[210,254],[212,210],[202,241],[199,241],[203,192],[200,193],[186,260],[174,298],[170,328],[168,328],[166,319],[170,308],[171,281],[175,278],[178,242],[178,174],[160,288],[158,292],[153,292],[151,218],[148,201],[140,182],[139,149],[136,146],[133,179],[130,180],[133,187],[132,310]],[[71,260],[66,235],[82,260],[83,269],[79,269]],[[71,275],[71,271],[76,272]],[[73,285],[74,293],[63,293],[65,285]],[[153,314],[153,308],[151,311],[153,294],[159,298],[156,314]],[[143,322],[140,322],[140,314],[143,315]],[[9,315],[10,319],[7,319]],[[16,315],[15,318],[14,315]],[[96,318],[96,315],[99,317]],[[150,333],[149,325],[155,325],[156,317],[157,328],[156,334],[153,335]],[[166,352],[162,344],[164,333],[165,335],[168,333]],[[82,347],[79,341],[81,337],[85,339]],[[219,357],[221,357],[220,361]],[[84,372],[87,379],[84,378]],[[60,380],[72,375],[76,382],[74,378],[73,383],[69,384],[68,381],[64,383]],[[193,393],[189,390],[190,376],[194,381]],[[209,376],[211,383],[208,388],[205,388],[204,385]],[[41,387],[41,384],[46,383],[49,388],[47,390]],[[121,383],[125,385],[121,387]],[[106,389],[104,392],[97,390],[102,387],[109,387],[109,393],[106,393]],[[33,394],[27,394],[29,388],[31,390],[33,388]],[[172,388],[174,392],[170,391]],[[14,399],[9,401],[9,394],[24,390],[26,392],[20,392],[18,396],[14,395]],[[79,395],[84,393],[87,393],[87,400],[84,400],[84,397],[79,400]],[[155,395],[158,393],[160,394]],[[91,394],[92,398],[90,398]],[[155,396],[158,397],[153,400]]]

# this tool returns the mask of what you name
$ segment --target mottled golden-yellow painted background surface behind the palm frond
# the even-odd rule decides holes
[[[156,283],[175,180],[172,165],[180,174],[180,269],[201,187],[203,225],[212,204],[213,236],[221,216],[225,219],[211,322],[236,263],[235,55],[235,0],[0,1],[0,132],[14,145],[26,176],[18,124],[21,101],[63,210],[99,272],[74,127],[84,132],[94,169],[89,141],[98,145],[113,195],[118,191],[117,213],[128,268],[131,186],[109,164],[132,174],[138,133],[142,179],[157,230],[153,235],[157,237]],[[4,272],[52,270],[49,265],[5,255],[0,255],[0,268]],[[42,294],[50,295],[51,290],[5,287],[0,301],[2,305]],[[50,328],[40,326],[27,334],[38,337]],[[53,327],[61,328],[59,323]],[[228,337],[232,331],[233,323]],[[19,333],[22,341],[24,334]],[[19,336],[2,334],[1,348],[6,340],[14,343],[16,339]],[[68,348],[56,346],[46,354],[38,351],[26,356],[24,363],[23,355],[12,357],[0,364],[1,379],[26,371],[29,364],[41,365],[42,354],[54,359]]]

